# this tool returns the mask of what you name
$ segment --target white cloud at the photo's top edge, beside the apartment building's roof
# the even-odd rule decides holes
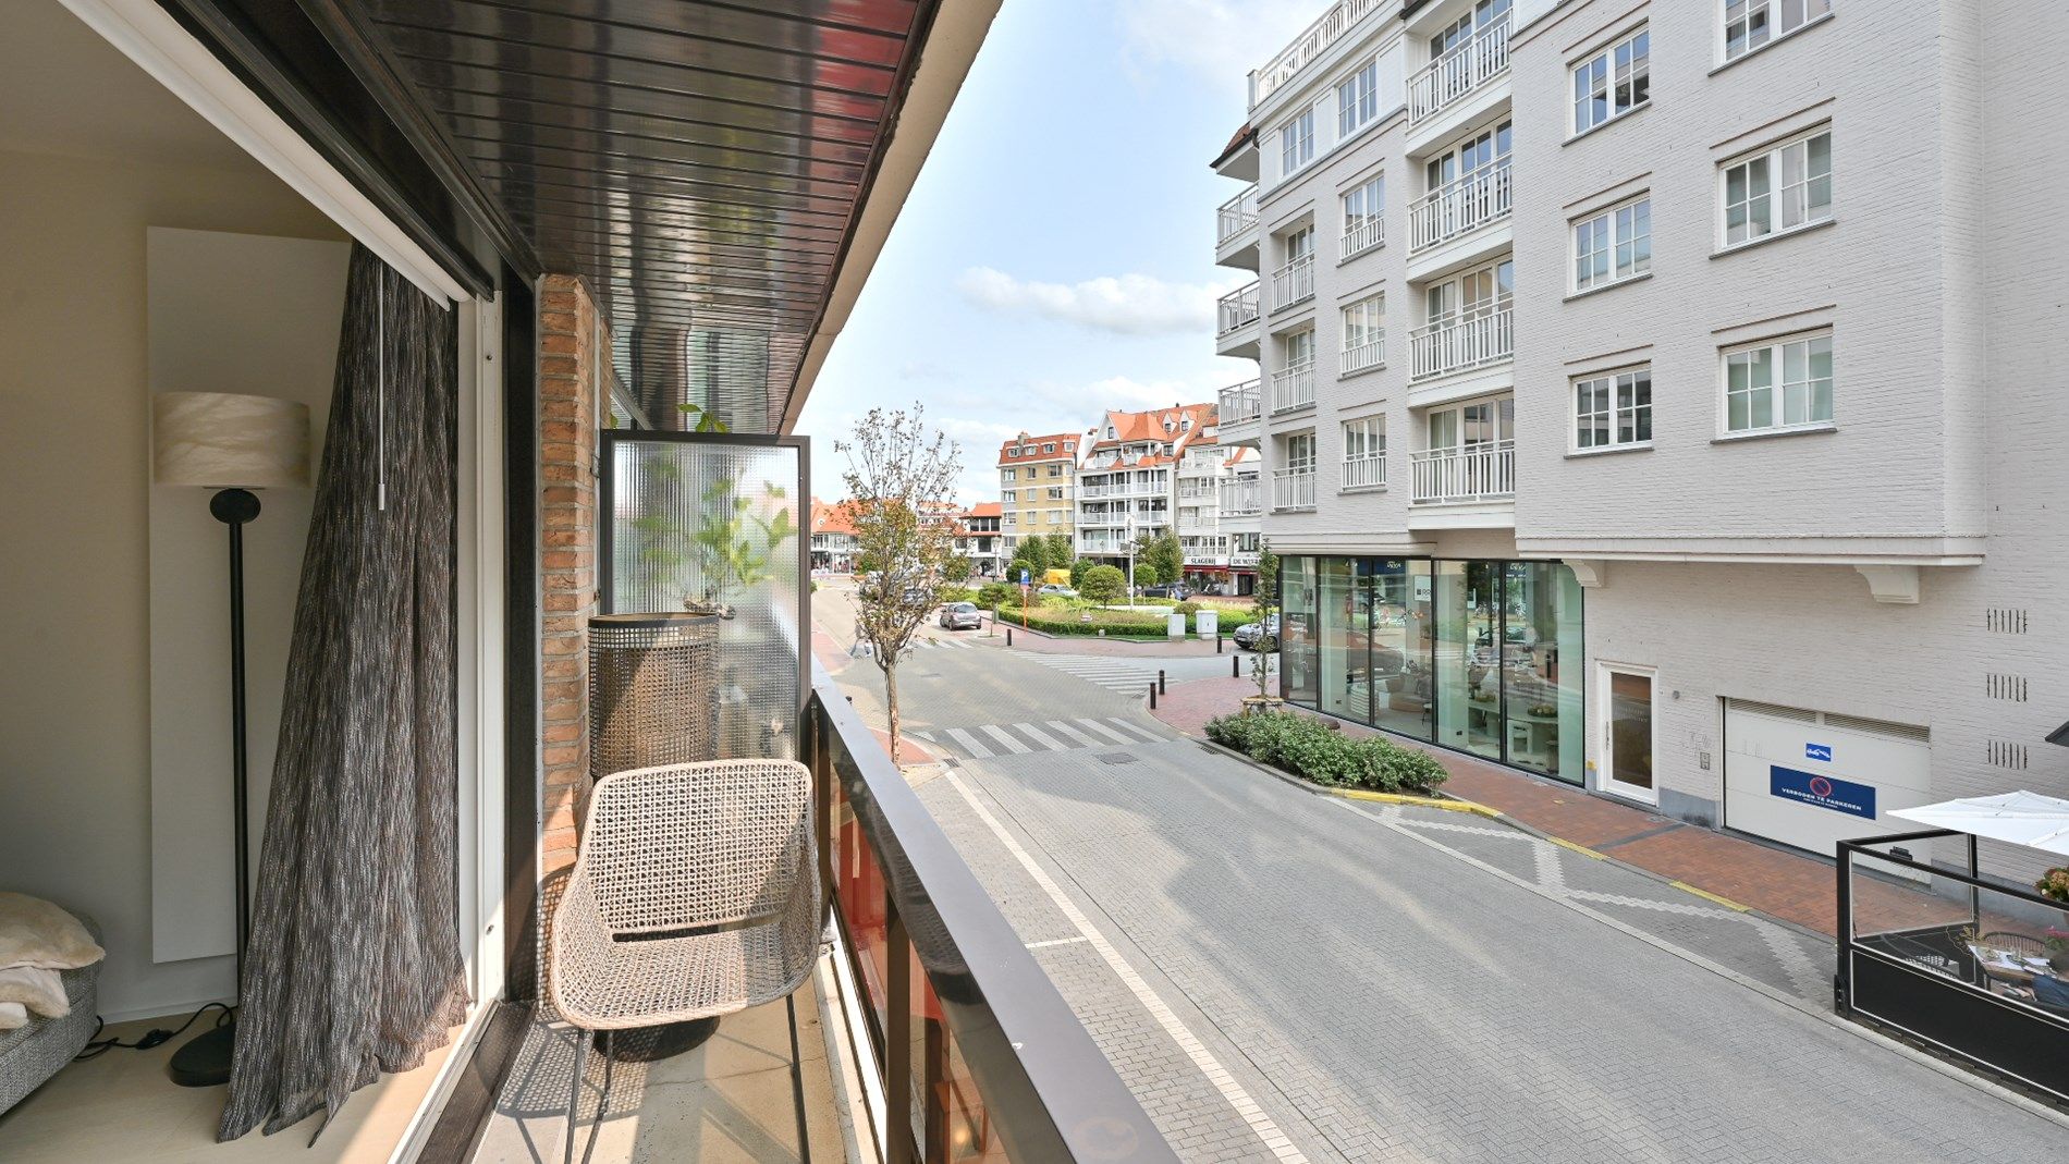
[[[1121,0],[1115,23],[1130,64],[1175,64],[1241,87],[1322,12],[1322,0]]]

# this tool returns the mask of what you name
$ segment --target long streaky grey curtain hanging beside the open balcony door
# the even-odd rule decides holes
[[[453,376],[451,314],[354,246],[219,1139],[329,1125],[466,1013]]]

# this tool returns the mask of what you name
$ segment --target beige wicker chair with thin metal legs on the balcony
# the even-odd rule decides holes
[[[805,982],[819,955],[817,862],[811,771],[801,763],[679,763],[596,784],[548,953],[552,1003],[583,1032],[567,1100],[569,1160],[588,1032],[604,1032],[600,1123],[610,1110],[610,1032],[730,1015]]]

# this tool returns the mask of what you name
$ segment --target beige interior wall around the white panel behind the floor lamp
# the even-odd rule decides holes
[[[0,153],[0,887],[99,918],[110,1017],[223,974],[151,961],[149,225],[341,238],[257,167]]]

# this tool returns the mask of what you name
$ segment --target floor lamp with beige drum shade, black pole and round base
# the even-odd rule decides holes
[[[159,393],[151,397],[151,482],[217,490],[209,513],[230,527],[230,835],[236,846],[236,974],[244,990],[244,941],[250,932],[250,841],[244,724],[244,525],[259,517],[261,488],[308,486],[308,405],[232,393]],[[182,1088],[230,1081],[236,1011],[174,1052],[170,1073]]]

